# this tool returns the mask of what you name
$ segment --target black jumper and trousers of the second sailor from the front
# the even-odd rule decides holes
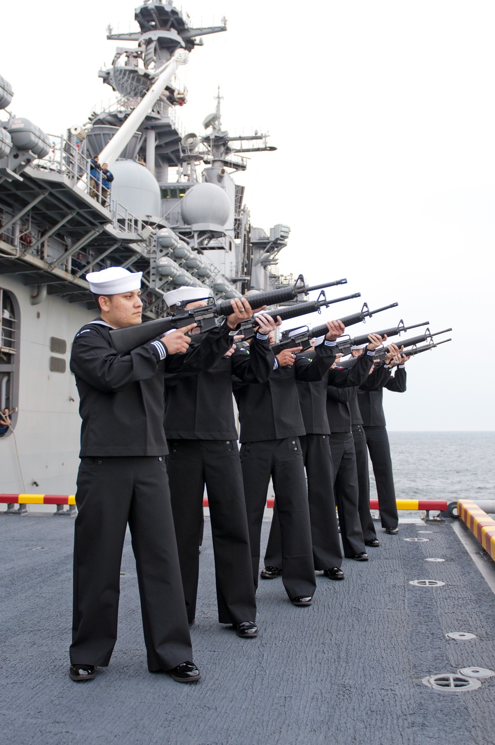
[[[206,484],[215,554],[218,621],[256,621],[248,519],[233,410],[232,375],[265,382],[274,367],[268,336],[215,367],[165,388],[167,471],[189,624],[195,620]]]

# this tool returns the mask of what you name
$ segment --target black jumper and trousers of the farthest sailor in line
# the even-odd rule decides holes
[[[373,474],[376,482],[380,520],[382,527],[397,527],[399,516],[395,501],[394,475],[390,445],[383,413],[383,389],[387,388],[395,393],[406,390],[406,370],[397,367],[395,375],[391,375],[388,367],[382,366],[376,370],[376,390],[359,390],[358,403],[365,430],[366,443],[370,452]]]

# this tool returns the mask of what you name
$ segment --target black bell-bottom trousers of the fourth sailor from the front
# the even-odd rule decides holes
[[[299,438],[308,480],[309,517],[313,562],[317,571],[340,567],[342,552],[338,538],[333,495],[333,466],[328,434],[306,434]],[[265,566],[282,566],[282,543],[277,502],[265,551]]]

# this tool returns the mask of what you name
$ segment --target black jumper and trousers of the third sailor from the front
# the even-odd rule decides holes
[[[299,437],[305,434],[296,380],[321,380],[335,359],[335,343],[318,346],[312,362],[297,355],[293,367],[277,367],[261,385],[236,381],[241,423],[241,464],[248,511],[253,580],[257,587],[260,536],[270,478],[280,522],[282,580],[292,600],[314,595],[308,494]]]

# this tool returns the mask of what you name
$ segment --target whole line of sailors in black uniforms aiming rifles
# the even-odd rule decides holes
[[[197,682],[189,627],[205,486],[218,621],[254,638],[270,479],[274,518],[261,577],[281,575],[295,606],[312,604],[315,571],[344,579],[341,543],[344,557],[358,561],[379,546],[368,450],[382,527],[398,532],[382,390],[406,390],[407,358],[389,344],[376,365],[375,350],[386,339],[371,334],[342,363],[335,354],[345,331],[339,320],[327,323],[327,335],[308,352],[283,349],[275,356],[280,322],[262,313],[249,351],[240,349],[233,335],[253,315],[247,298],[233,299],[233,314],[198,340],[189,335],[192,324],[119,355],[110,331],[141,323],[141,273],[110,267],[86,279],[100,316],[75,336],[70,363],[82,425],[69,676],[93,679],[110,662],[128,524],[148,670]],[[206,305],[207,296],[201,288],[179,288],[164,299],[174,311],[177,302],[186,309]]]

